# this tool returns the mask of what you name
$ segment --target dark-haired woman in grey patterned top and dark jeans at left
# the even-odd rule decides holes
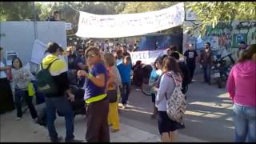
[[[15,105],[17,108],[17,120],[22,118],[22,98],[25,98],[27,106],[29,106],[31,117],[36,122],[38,118],[38,113],[34,108],[32,102],[33,97],[28,94],[27,86],[29,82],[34,79],[30,70],[26,70],[22,66],[22,61],[20,58],[14,58],[12,61],[12,73],[13,73],[13,83],[12,90],[15,95]]]

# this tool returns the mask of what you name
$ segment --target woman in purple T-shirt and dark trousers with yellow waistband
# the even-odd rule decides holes
[[[86,50],[89,73],[78,70],[78,77],[86,78],[84,84],[86,111],[86,141],[110,142],[108,126],[109,100],[106,96],[107,70],[100,50],[90,46]]]

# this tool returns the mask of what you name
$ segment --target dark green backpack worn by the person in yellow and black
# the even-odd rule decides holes
[[[58,88],[54,82],[54,78],[52,78],[50,74],[50,66],[52,63],[57,61],[55,59],[53,62],[50,63],[50,65],[46,69],[38,70],[38,73],[36,74],[36,78],[38,81],[38,91],[44,94],[56,94],[58,93]],[[42,64],[41,64],[42,66]]]

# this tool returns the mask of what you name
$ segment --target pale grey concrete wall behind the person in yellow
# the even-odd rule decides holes
[[[0,22],[0,46],[6,50],[17,51],[24,65],[30,62],[33,43],[37,32],[38,40],[48,43],[58,42],[66,49],[65,22]]]

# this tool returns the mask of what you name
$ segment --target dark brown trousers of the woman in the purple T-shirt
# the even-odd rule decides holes
[[[109,100],[107,98],[88,105],[86,112],[87,142],[110,142],[108,126]]]

